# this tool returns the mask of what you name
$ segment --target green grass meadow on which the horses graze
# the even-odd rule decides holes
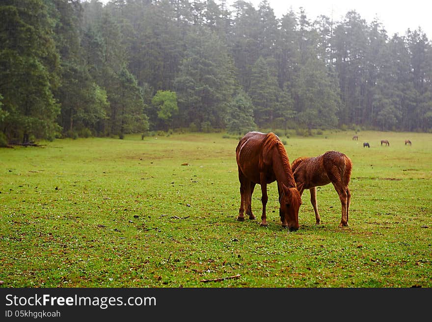
[[[353,162],[349,227],[338,228],[340,201],[327,185],[317,192],[322,224],[305,191],[291,233],[276,183],[267,228],[258,188],[258,219],[236,221],[238,137],[0,149],[1,287],[432,287],[432,134],[353,134],[281,136],[290,161],[338,150]],[[222,280],[204,281],[213,279]]]

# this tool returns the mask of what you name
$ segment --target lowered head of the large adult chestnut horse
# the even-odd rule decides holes
[[[301,196],[296,187],[288,188],[281,185],[279,215],[282,226],[290,231],[298,230],[298,209],[301,205]]]

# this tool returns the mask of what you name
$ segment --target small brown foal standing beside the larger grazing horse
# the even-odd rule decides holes
[[[351,178],[352,162],[345,154],[338,151],[327,151],[315,158],[297,158],[291,164],[294,179],[300,195],[309,189],[311,203],[315,211],[316,224],[321,217],[317,207],[317,188],[330,182],[336,189],[342,204],[342,219],[339,227],[348,226],[348,213],[351,203],[351,192],[348,188]]]

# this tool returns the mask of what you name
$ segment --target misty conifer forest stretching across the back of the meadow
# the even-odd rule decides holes
[[[356,11],[2,0],[0,142],[188,129],[432,130],[432,43]]]

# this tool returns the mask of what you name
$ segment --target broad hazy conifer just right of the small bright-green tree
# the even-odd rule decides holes
[[[181,126],[193,123],[221,129],[236,90],[231,57],[215,32],[197,28],[187,39],[186,57],[174,80],[178,94]],[[180,124],[179,124],[180,125]]]

